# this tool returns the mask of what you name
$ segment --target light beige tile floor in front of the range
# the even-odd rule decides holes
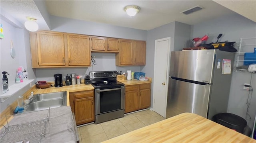
[[[123,118],[78,127],[80,143],[100,143],[118,135],[164,120],[151,110],[125,115]]]

